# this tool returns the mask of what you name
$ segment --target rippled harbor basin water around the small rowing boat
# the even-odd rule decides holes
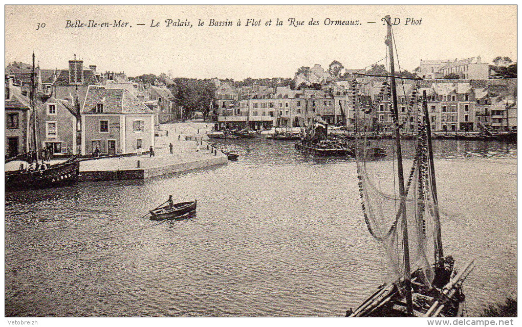
[[[218,144],[239,161],[6,193],[6,316],[339,317],[386,281],[353,159],[290,141]],[[474,316],[516,291],[517,148],[441,140],[434,151],[445,255],[477,261],[464,284]],[[197,199],[197,213],[143,217],[169,195]]]

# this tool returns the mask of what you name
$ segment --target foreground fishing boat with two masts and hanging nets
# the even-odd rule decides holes
[[[415,153],[405,184],[396,80],[404,82],[406,79],[419,78],[395,75],[392,23],[390,16],[386,16],[385,19],[389,73],[358,75],[385,78],[382,95],[384,101],[391,100],[392,110],[388,114],[392,117],[394,126],[392,161],[374,162],[367,152],[367,148],[374,147],[366,138],[367,127],[373,120],[373,108],[361,108],[358,82],[355,79],[352,82],[352,103],[355,116],[355,160],[364,221],[387,257],[394,281],[378,287],[357,309],[347,310],[347,316],[461,316],[461,302],[464,301],[462,283],[472,271],[473,261],[457,273],[453,257],[443,255],[430,116],[426,92],[423,91],[421,95],[419,84],[416,84],[416,90],[411,92],[406,113],[408,116],[417,117],[417,126],[416,138],[413,140]],[[388,169],[394,177],[384,177]],[[434,253],[433,263],[430,263],[426,255],[431,252],[431,246]]]

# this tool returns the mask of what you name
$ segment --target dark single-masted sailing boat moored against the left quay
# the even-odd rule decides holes
[[[30,164],[30,168],[23,169],[23,167],[20,166],[20,169],[17,171],[6,171],[5,188],[8,190],[51,188],[75,185],[78,183],[80,162],[74,157],[63,163],[39,166],[40,143],[38,140],[35,111],[34,53],[32,60],[33,65],[30,94],[30,117],[32,120],[32,128],[28,130],[29,152],[6,159],[5,161],[5,163],[8,163],[15,160],[25,160]]]

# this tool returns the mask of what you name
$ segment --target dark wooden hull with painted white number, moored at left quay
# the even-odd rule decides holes
[[[7,190],[44,189],[78,184],[80,162],[66,162],[53,165],[44,171],[6,172],[5,188]]]

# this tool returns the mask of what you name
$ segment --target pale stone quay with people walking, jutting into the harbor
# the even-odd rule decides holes
[[[195,136],[198,140],[203,137],[205,140],[205,125],[208,124],[187,122],[161,125],[160,136],[155,138],[154,156],[146,153],[123,158],[82,161],[80,181],[144,179],[227,164],[227,156],[219,150],[214,153],[210,147],[207,149],[208,144],[205,141],[203,145],[198,146],[200,141],[185,140],[186,136]],[[197,134],[198,128],[200,135]],[[170,143],[173,146],[172,154],[169,149]],[[144,148],[143,151],[148,151],[148,148]]]

